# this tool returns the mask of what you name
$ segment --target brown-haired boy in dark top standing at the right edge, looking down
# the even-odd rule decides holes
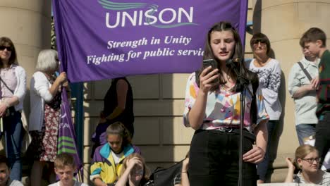
[[[326,35],[323,30],[312,27],[302,35],[305,43],[304,49],[311,54],[318,56],[319,77],[314,83],[317,87],[317,118],[315,147],[319,151],[321,158],[320,165],[330,148],[330,52],[326,49]]]

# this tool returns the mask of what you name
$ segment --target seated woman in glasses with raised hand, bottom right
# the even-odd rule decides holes
[[[319,152],[315,147],[304,144],[295,150],[295,160],[286,158],[288,175],[285,182],[330,185],[330,173],[319,169]],[[298,174],[294,174],[295,170]]]

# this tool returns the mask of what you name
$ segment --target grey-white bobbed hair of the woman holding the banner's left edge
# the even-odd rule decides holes
[[[37,66],[35,66],[37,71],[43,73],[56,71],[59,68],[59,57],[57,51],[53,49],[45,49],[39,52]]]

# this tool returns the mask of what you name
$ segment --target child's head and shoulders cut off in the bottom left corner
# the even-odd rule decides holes
[[[11,180],[9,162],[6,156],[0,155],[0,186],[23,186],[18,180]]]

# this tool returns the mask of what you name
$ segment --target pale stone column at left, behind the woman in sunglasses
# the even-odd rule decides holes
[[[50,48],[51,1],[1,0],[0,18],[0,37],[9,37],[15,44],[18,63],[27,73],[27,89],[30,89],[39,51]],[[29,99],[27,91],[25,113],[30,113]]]

